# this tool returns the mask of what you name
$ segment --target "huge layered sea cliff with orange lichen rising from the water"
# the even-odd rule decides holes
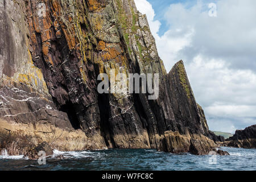
[[[0,12],[2,133],[21,132],[35,146],[60,133],[55,143],[47,140],[60,150],[197,155],[221,140],[208,129],[183,61],[166,73],[146,15],[133,0],[4,0]],[[127,76],[159,73],[159,97],[98,93],[98,74],[110,77],[111,69]]]

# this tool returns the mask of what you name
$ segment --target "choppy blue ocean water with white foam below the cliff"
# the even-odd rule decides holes
[[[98,150],[60,152],[39,165],[23,156],[0,155],[0,170],[256,170],[256,149],[221,147],[230,156],[176,155],[156,150]],[[58,156],[65,159],[57,159]]]

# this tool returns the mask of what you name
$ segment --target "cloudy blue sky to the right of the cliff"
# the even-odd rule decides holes
[[[256,124],[256,1],[135,0],[167,72],[183,60],[210,130]],[[215,3],[216,15],[209,16]],[[212,11],[210,11],[212,12]]]

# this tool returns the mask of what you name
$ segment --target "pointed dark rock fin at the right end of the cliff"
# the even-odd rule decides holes
[[[185,134],[185,129],[188,128],[189,133],[204,134],[214,141],[222,140],[221,137],[209,131],[204,110],[196,103],[183,61],[174,65],[168,73],[167,80],[167,85],[170,85],[168,88],[169,103],[173,108],[176,121],[172,131],[178,130],[181,134]]]

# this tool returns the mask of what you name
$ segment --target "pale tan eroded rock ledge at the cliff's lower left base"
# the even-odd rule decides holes
[[[52,155],[52,150],[77,151],[106,149],[104,141],[88,138],[82,130],[64,130],[50,123],[15,123],[0,119],[0,154],[25,155],[37,159],[39,151]]]

